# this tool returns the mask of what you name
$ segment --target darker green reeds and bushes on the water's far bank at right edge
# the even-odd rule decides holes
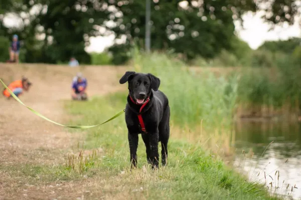
[[[301,108],[301,72],[292,60],[282,59],[272,69],[245,69],[238,85],[241,103]]]

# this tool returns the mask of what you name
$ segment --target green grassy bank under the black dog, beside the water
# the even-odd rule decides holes
[[[74,123],[95,124],[124,108],[126,92],[93,98],[88,102],[70,102],[67,109],[80,119]],[[147,165],[145,146],[138,146],[138,168],[129,170],[127,130],[124,117],[96,128],[87,129],[86,140],[80,148],[102,148],[88,159],[67,160],[68,173],[102,179],[101,192],[124,199],[272,199],[259,185],[249,183],[228,168],[202,144],[180,139],[171,132],[168,166],[152,171]],[[140,136],[139,136],[140,137]],[[197,139],[197,138],[195,138]],[[71,161],[70,161],[71,160]]]

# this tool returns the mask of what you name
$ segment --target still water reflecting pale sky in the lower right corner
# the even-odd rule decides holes
[[[260,181],[271,192],[301,199],[301,123],[239,121],[232,142],[234,167],[249,180]]]

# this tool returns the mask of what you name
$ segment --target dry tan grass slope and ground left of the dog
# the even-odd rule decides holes
[[[27,76],[33,87],[21,99],[47,117],[66,122],[71,115],[64,112],[61,99],[70,98],[71,80],[77,71],[88,78],[90,95],[102,95],[120,89],[116,76],[123,70],[124,67],[111,66],[71,68],[1,64],[0,74],[6,83]],[[77,182],[76,175],[68,182],[57,181],[57,177],[61,177],[58,169],[62,169],[68,153],[79,151],[78,144],[84,140],[84,132],[68,132],[3,96],[0,109],[0,199],[55,199],[60,196],[75,199],[86,195],[79,190],[82,181]],[[82,151],[83,156],[88,153],[89,150]]]

